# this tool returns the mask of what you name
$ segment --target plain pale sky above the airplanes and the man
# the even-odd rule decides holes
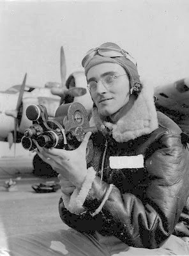
[[[0,90],[22,83],[60,82],[83,70],[86,52],[114,42],[137,60],[152,86],[189,77],[188,0],[1,1]]]

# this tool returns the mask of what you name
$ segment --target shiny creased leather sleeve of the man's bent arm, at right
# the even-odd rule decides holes
[[[99,218],[103,232],[112,232],[129,246],[160,247],[174,231],[188,196],[188,157],[188,150],[181,144],[180,136],[163,136],[156,150],[145,161],[148,183],[144,198],[141,200],[132,193],[121,194],[114,186],[100,214],[90,216],[91,220]],[[94,212],[101,204],[107,188],[109,184],[95,177],[84,202],[86,215],[82,216],[82,224],[75,223],[86,226],[89,212]],[[63,212],[63,206],[60,211]],[[68,215],[61,218],[66,222]],[[89,222],[88,228],[98,230],[98,227],[93,227],[97,221]],[[76,229],[78,225],[75,225]],[[73,227],[73,222],[70,227]]]

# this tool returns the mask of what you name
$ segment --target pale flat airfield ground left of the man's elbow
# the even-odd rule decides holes
[[[58,202],[61,190],[54,193],[36,193],[32,184],[57,177],[39,178],[25,175],[17,180],[17,191],[5,191],[5,179],[0,179],[0,245],[5,236],[43,230],[68,228],[59,218]]]

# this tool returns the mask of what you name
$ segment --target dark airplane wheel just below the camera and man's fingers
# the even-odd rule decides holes
[[[46,176],[46,177],[56,177],[57,172],[55,172],[50,164],[45,163],[39,156],[36,154],[33,158],[33,173],[37,176]]]

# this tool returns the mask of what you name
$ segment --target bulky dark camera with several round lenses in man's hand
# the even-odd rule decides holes
[[[63,148],[74,150],[84,140],[86,132],[95,132],[89,127],[87,111],[79,102],[63,104],[56,110],[54,118],[50,118],[43,105],[31,105],[26,109],[26,116],[33,125],[24,131],[22,146],[26,150],[35,151],[36,140],[40,147]],[[93,142],[89,139],[86,150],[86,161],[93,159]]]

